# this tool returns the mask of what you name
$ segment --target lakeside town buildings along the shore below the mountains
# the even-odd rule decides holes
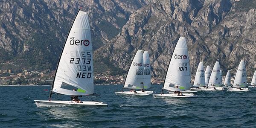
[[[12,70],[0,70],[0,85],[50,85],[55,75],[54,70],[30,71],[23,70],[13,73]],[[94,84],[117,85],[124,84],[125,75],[111,76],[107,73],[94,73]],[[162,84],[162,78],[151,78],[151,84]]]

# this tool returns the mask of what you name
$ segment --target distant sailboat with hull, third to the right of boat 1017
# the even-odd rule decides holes
[[[224,90],[223,88],[217,88],[222,85],[221,83],[221,74],[220,74],[220,64],[218,61],[215,62],[214,67],[212,69],[211,76],[209,78],[209,82],[206,90]]]

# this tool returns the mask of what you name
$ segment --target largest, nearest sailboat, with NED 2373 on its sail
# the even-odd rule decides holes
[[[49,100],[35,100],[38,107],[84,106],[107,107],[97,101],[51,100],[53,93],[69,96],[93,95],[93,48],[87,12],[79,11],[73,21],[58,61]]]

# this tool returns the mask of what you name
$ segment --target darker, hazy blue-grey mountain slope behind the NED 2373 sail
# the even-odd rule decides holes
[[[55,69],[80,7],[90,15],[93,49],[98,49],[119,33],[131,13],[144,5],[140,0],[2,0],[0,60],[19,59],[29,61],[27,66],[31,68]]]

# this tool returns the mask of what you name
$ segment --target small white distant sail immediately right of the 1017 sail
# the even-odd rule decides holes
[[[204,64],[203,62],[200,62],[198,64],[198,69],[195,74],[195,80],[193,86],[195,87],[202,87],[205,85],[205,79],[204,79]]]

